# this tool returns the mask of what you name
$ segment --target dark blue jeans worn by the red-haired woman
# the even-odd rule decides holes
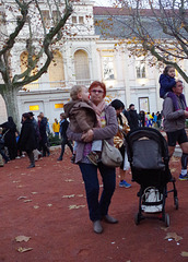
[[[110,200],[116,188],[115,168],[104,166],[102,163],[99,163],[98,166],[80,163],[79,166],[85,184],[90,219],[93,222],[99,221],[103,216],[108,214]],[[97,169],[99,169],[103,179],[103,192],[99,201],[99,182],[97,177]]]

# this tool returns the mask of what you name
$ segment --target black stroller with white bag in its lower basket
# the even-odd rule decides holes
[[[175,178],[168,167],[168,148],[166,140],[155,129],[140,128],[126,136],[128,159],[132,171],[132,180],[140,184],[139,213],[134,217],[136,225],[144,218],[158,218],[169,226],[169,215],[165,213],[167,193],[174,192],[174,204],[178,210]],[[167,183],[173,189],[167,191]],[[150,215],[143,215],[148,213]],[[157,216],[152,216],[157,213]]]

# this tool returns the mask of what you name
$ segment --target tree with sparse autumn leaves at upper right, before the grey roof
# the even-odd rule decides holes
[[[173,64],[188,83],[181,66],[188,59],[187,0],[116,0],[95,24],[116,46],[130,56],[143,57],[151,66]]]

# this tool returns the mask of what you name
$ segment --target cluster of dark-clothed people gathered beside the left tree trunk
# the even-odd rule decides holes
[[[21,132],[17,131],[16,124],[12,117],[0,124],[0,155],[4,163],[15,158],[30,158],[30,166],[35,167],[35,160],[50,155],[47,139],[47,118],[40,112],[37,120],[32,111],[24,112],[21,119]],[[1,166],[3,163],[1,160]]]

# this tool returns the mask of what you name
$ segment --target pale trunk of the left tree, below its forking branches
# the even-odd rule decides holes
[[[17,130],[21,128],[21,119],[19,116],[19,107],[17,107],[17,94],[19,90],[15,88],[14,86],[5,85],[5,88],[3,88],[3,92],[1,93],[5,107],[7,107],[7,112],[8,117],[12,117]]]

